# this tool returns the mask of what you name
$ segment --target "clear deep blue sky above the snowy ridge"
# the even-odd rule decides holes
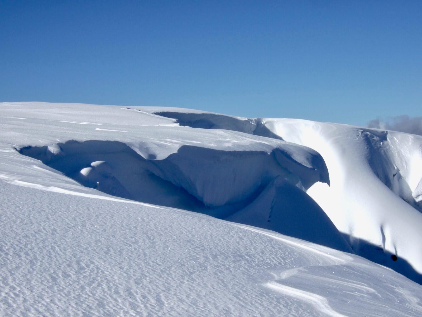
[[[422,114],[422,1],[0,0],[0,101]]]

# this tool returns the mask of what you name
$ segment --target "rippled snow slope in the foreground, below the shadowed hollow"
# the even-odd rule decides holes
[[[1,316],[422,314],[420,285],[352,254],[93,199],[95,189],[84,197],[17,185],[0,180]]]

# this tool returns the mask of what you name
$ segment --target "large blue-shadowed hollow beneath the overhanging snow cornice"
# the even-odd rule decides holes
[[[324,211],[301,190],[317,181],[328,183],[325,164],[317,164],[322,170],[305,166],[279,148],[266,153],[184,145],[157,160],[122,142],[91,140],[28,146],[19,153],[107,194],[205,213],[350,251]]]

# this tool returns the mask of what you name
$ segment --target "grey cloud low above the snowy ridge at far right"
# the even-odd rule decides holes
[[[375,119],[368,122],[368,128],[400,131],[422,135],[422,117],[410,118],[408,115],[399,115],[387,120]]]

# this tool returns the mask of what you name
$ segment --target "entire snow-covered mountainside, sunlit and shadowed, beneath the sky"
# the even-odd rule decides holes
[[[48,103],[0,126],[1,316],[422,315],[350,248],[421,273],[412,135]]]

